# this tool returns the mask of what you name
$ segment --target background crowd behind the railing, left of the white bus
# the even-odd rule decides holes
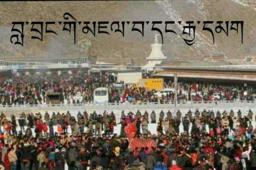
[[[104,77],[103,77],[104,78]],[[103,79],[102,79],[103,80]],[[49,91],[59,92],[61,100],[72,102],[73,96],[79,91],[84,96],[84,102],[93,101],[93,90],[105,87],[107,80],[101,81],[100,76],[86,73],[68,72],[62,74],[31,74],[12,75],[10,79],[0,80],[0,103],[5,104],[39,104],[46,102]],[[76,101],[75,101],[76,102]]]

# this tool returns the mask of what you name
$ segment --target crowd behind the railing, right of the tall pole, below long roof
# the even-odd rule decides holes
[[[174,88],[175,84],[172,81],[166,82],[166,86]],[[187,83],[179,81],[177,83],[178,102],[186,101],[211,101],[211,100],[255,100],[254,86],[234,86],[211,83]],[[246,94],[244,93],[246,92]],[[217,95],[214,95],[217,94]],[[163,96],[168,99],[168,96]],[[172,97],[173,98],[173,97]]]

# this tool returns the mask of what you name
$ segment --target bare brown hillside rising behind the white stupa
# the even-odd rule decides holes
[[[202,60],[204,55],[225,54],[229,58],[244,58],[256,54],[256,2],[245,0],[172,0],[172,1],[62,1],[62,2],[1,2],[0,5],[0,57],[1,60],[25,58],[65,58],[96,55],[105,62],[126,63],[133,58],[137,65],[146,63],[151,53],[155,32],[152,25],[145,26],[144,37],[130,31],[122,37],[120,32],[110,35],[83,34],[76,30],[76,45],[73,35],[62,31],[63,26],[51,27],[55,34],[44,34],[43,41],[31,40],[30,27],[25,25],[24,47],[11,44],[12,21],[64,21],[63,14],[69,12],[77,21],[244,21],[244,44],[241,34],[234,30],[212,35],[196,25],[196,41],[185,44],[181,32],[183,24],[171,25],[177,32],[164,33],[163,53],[179,60]],[[216,24],[213,24],[214,26]],[[230,25],[229,25],[230,27]],[[212,27],[214,30],[215,27]],[[164,32],[164,24],[161,26]]]

